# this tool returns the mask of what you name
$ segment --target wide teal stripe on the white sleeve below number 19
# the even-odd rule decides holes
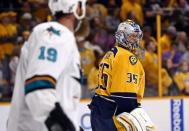
[[[25,95],[40,89],[54,89],[55,86],[47,80],[36,80],[25,85]]]

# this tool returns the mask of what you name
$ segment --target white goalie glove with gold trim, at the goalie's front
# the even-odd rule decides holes
[[[155,131],[155,126],[143,108],[136,108],[130,113],[123,112],[116,119],[126,131]]]

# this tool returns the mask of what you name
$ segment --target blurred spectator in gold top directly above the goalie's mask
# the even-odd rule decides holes
[[[128,19],[128,14],[131,13],[136,17],[136,22],[143,25],[144,18],[142,7],[137,3],[136,0],[128,0],[124,2],[121,6],[120,17],[122,21]]]

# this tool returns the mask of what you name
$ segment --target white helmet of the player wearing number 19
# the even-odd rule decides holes
[[[77,7],[81,3],[82,14],[77,14]],[[73,13],[74,16],[81,20],[86,14],[86,0],[49,0],[49,8],[53,15],[62,11],[64,14]]]

